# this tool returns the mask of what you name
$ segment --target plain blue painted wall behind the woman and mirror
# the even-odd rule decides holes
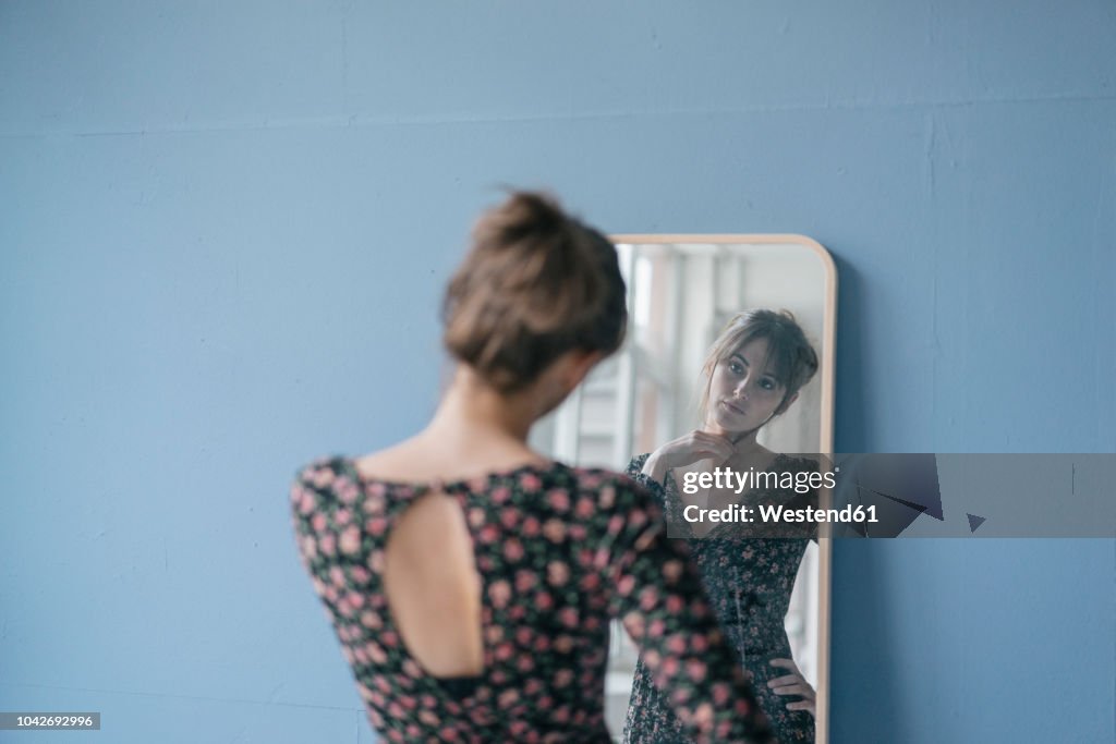
[[[287,484],[423,423],[498,184],[827,245],[840,451],[1116,451],[1116,7],[914,4],[0,3],[0,709],[372,741]],[[838,744],[1112,742],[1116,541],[838,544],[834,665]]]

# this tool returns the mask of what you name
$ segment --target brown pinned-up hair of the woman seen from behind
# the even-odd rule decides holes
[[[627,327],[616,247],[538,192],[485,212],[445,291],[446,349],[502,393],[562,354],[609,355]]]

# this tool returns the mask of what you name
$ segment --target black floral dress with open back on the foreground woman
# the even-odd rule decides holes
[[[484,671],[427,674],[383,587],[393,525],[423,494],[453,496],[482,579]],[[622,618],[679,729],[700,742],[769,742],[684,542],[631,479],[561,464],[452,483],[363,479],[346,457],[305,467],[290,492],[315,591],[368,718],[389,742],[610,742],[608,625]],[[434,545],[432,545],[432,549]]]

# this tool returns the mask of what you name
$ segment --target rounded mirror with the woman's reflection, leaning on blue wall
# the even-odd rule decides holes
[[[711,506],[733,494],[680,494],[685,472],[727,462],[737,472],[772,462],[809,468],[818,453],[831,451],[836,276],[820,245],[796,235],[614,240],[628,283],[625,346],[540,422],[535,446],[564,462],[627,471],[657,487],[664,502]],[[735,331],[725,332],[733,323]],[[788,329],[800,329],[800,336],[790,332],[788,341]],[[722,348],[711,355],[719,340]],[[802,364],[810,350],[816,369]],[[798,361],[788,366],[787,359]],[[672,531],[680,522],[672,520]],[[702,537],[706,528],[685,537]],[[718,539],[692,543],[711,600],[764,694],[780,741],[825,738],[824,722],[815,726],[815,719],[827,709],[822,577],[828,578],[829,553],[827,540],[811,537],[743,539],[730,547]],[[770,692],[772,679],[781,694]],[[656,741],[650,729],[670,725],[618,626],[606,692],[617,738],[626,717],[633,741]]]

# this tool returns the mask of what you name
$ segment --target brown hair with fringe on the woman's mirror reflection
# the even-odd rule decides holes
[[[775,378],[783,386],[782,403],[775,409],[776,416],[787,410],[790,399],[810,381],[818,371],[818,352],[806,339],[802,327],[789,310],[754,309],[733,316],[713,341],[702,367],[706,385],[701,394],[699,410],[704,421],[709,407],[709,381],[718,364],[733,355],[737,349],[756,339],[768,342],[767,364],[772,366]]]

